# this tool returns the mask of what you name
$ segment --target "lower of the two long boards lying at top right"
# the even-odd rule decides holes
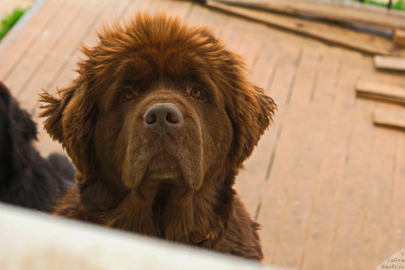
[[[387,38],[368,33],[356,32],[332,23],[320,23],[291,16],[229,6],[208,0],[207,5],[255,21],[277,26],[300,34],[309,35],[322,41],[338,44],[369,54],[405,56],[405,50],[397,49]]]

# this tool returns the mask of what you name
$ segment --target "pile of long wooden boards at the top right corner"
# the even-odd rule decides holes
[[[364,53],[405,57],[405,47],[392,42],[394,32],[399,44],[405,40],[405,37],[401,39],[405,13],[398,11],[303,0],[207,0],[205,3],[215,9]]]

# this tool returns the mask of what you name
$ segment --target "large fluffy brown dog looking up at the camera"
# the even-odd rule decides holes
[[[207,28],[137,15],[98,35],[60,98],[41,95],[78,170],[56,214],[262,259],[232,186],[273,100]]]

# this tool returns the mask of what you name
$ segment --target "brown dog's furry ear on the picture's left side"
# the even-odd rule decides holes
[[[88,84],[74,80],[58,93],[60,98],[47,92],[40,94],[39,101],[45,104],[39,117],[47,118],[45,130],[62,144],[77,170],[88,175],[96,166],[92,162],[96,109]]]

